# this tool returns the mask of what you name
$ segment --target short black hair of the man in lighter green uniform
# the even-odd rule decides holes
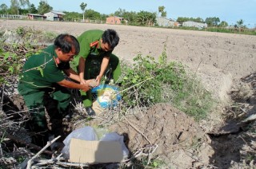
[[[102,34],[102,42],[109,44],[110,48],[114,49],[119,42],[118,33],[114,29],[106,29]]]

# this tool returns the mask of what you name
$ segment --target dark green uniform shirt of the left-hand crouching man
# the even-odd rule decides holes
[[[57,66],[54,58],[57,58],[54,45],[43,49],[42,53],[38,55],[29,57],[22,69],[19,88],[26,87],[32,90],[47,88],[54,85],[54,83],[63,81],[65,77],[62,70],[70,69],[70,64],[61,62]]]

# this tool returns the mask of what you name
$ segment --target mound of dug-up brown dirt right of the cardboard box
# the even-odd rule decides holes
[[[186,156],[183,167],[191,167],[194,161],[184,149],[203,136],[202,129],[190,116],[170,104],[156,104],[145,113],[127,115],[122,122],[111,125],[110,131],[128,136],[128,147],[133,155],[138,155],[138,150],[150,152],[172,166],[175,161],[183,161],[177,160],[178,157]]]

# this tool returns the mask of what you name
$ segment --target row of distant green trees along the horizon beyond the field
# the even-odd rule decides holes
[[[141,10],[139,12],[134,11],[126,11],[122,9],[118,9],[113,14],[100,14],[95,10],[86,10],[87,3],[82,2],[80,4],[80,8],[82,10],[82,14],[79,12],[67,12],[63,11],[66,15],[63,16],[64,21],[75,22],[81,21],[84,22],[85,18],[89,20],[100,20],[106,21],[107,17],[110,16],[118,16],[124,18],[126,20],[123,23],[133,25],[133,26],[156,26],[156,18],[158,16],[162,18],[166,18],[167,13],[165,11],[165,6],[158,6],[158,12],[148,12],[145,10]],[[41,0],[39,2],[38,7],[34,6],[33,3],[30,3],[30,0],[10,0],[10,7],[6,6],[6,4],[0,5],[0,14],[46,14],[53,10],[53,7],[50,6],[47,1]],[[186,18],[186,17],[178,17],[176,22],[200,22],[206,23],[209,27],[226,27],[228,23],[225,21],[221,21],[218,17],[206,18],[203,20],[202,18]],[[238,27],[243,26],[243,20],[240,19],[237,22]]]

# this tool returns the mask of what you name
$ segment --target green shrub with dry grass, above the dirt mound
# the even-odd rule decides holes
[[[211,93],[181,63],[166,61],[165,51],[158,61],[138,55],[132,66],[123,65],[120,90],[126,107],[168,102],[195,120],[205,118],[214,103]]]

